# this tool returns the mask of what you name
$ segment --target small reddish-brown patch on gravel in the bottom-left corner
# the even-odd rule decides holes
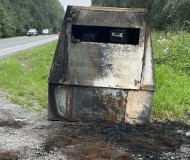
[[[19,155],[18,151],[0,151],[0,160],[18,160]]]

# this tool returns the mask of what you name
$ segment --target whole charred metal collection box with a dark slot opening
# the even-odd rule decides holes
[[[48,118],[148,123],[155,76],[146,10],[69,6],[61,33]]]

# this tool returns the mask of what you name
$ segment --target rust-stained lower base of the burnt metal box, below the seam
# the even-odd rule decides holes
[[[154,92],[49,84],[49,120],[146,124]]]

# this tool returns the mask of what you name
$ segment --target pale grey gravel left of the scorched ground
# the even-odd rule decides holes
[[[44,137],[54,134],[63,123],[47,121],[46,117],[46,113],[38,114],[12,104],[0,92],[0,159],[65,160],[59,152],[49,155],[43,151]]]

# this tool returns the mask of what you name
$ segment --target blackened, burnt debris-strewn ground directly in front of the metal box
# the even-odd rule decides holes
[[[43,148],[47,153],[59,148],[69,159],[79,160],[169,159],[164,156],[167,153],[183,159],[180,147],[190,144],[185,134],[188,131],[189,125],[171,121],[142,127],[124,123],[67,122],[56,135],[44,137]],[[190,154],[185,156],[190,158]]]

